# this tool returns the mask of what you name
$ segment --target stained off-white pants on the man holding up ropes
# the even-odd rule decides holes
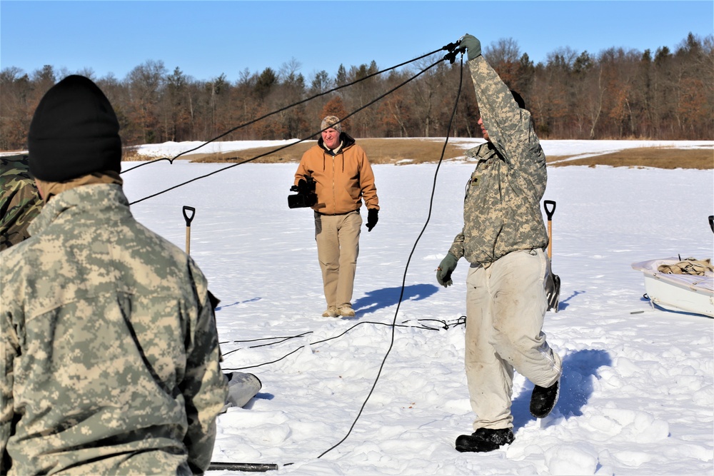
[[[523,250],[468,270],[465,363],[474,430],[513,427],[514,368],[541,387],[560,378],[562,361],[541,331],[546,260],[543,250]]]

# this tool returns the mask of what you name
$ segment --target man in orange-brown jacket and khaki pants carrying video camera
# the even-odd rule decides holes
[[[323,317],[353,317],[352,290],[359,254],[362,218],[367,206],[367,230],[377,224],[379,199],[374,174],[366,153],[348,133],[340,119],[327,116],[321,123],[321,138],[301,158],[295,173],[298,193],[306,193],[315,181],[315,240],[322,270],[327,309]]]

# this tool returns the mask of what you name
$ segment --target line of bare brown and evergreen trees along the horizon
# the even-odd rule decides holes
[[[599,54],[560,48],[534,64],[513,39],[501,39],[483,55],[503,81],[525,98],[540,138],[714,138],[714,36],[688,34],[670,51],[610,48]],[[95,81],[111,101],[124,146],[165,141],[306,138],[327,113],[348,118],[354,137],[443,137],[458,91],[461,67],[439,61],[443,53],[383,74],[376,62],[341,65],[334,76],[319,71],[306,79],[291,59],[279,69],[245,69],[236,81],[225,74],[193,79],[177,66],[146,61],[122,80],[74,74]],[[466,59],[464,59],[466,61]],[[409,81],[428,66],[437,63]],[[391,65],[390,65],[391,66]],[[45,65],[31,74],[14,66],[0,71],[0,150],[26,148],[32,114],[41,97],[69,71]],[[363,80],[363,81],[359,81]],[[358,83],[326,93],[338,86]],[[371,106],[368,103],[392,88]],[[318,96],[319,95],[319,96]],[[291,108],[293,103],[318,96]],[[285,108],[268,118],[268,113]],[[478,137],[478,104],[468,66],[451,136]]]

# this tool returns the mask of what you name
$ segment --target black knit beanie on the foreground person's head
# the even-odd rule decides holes
[[[32,117],[27,147],[30,172],[43,181],[121,171],[114,108],[84,76],[67,76],[47,91]]]

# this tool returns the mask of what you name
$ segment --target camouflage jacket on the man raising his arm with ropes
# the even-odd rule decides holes
[[[449,249],[472,264],[488,264],[516,250],[545,248],[540,213],[547,176],[545,154],[531,123],[483,56],[468,62],[490,142],[469,150],[478,159],[466,183],[463,230]]]

